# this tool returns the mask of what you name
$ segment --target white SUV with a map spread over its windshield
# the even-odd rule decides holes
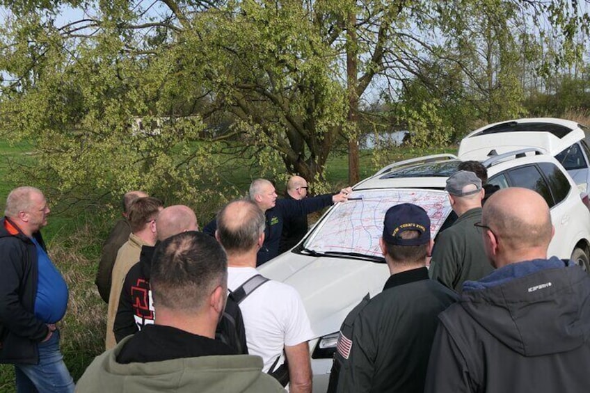
[[[356,184],[351,199],[330,208],[298,246],[260,267],[263,275],[292,285],[303,298],[317,337],[310,342],[314,392],[326,391],[344,317],[367,293],[380,293],[390,275],[378,248],[385,211],[402,202],[419,204],[436,236],[451,212],[443,191],[446,179],[460,162],[439,154],[383,168]],[[488,183],[541,193],[555,225],[550,255],[573,257],[589,269],[590,211],[553,157],[528,149],[499,154],[484,165]]]

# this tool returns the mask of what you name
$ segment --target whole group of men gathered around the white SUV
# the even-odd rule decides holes
[[[485,186],[472,170],[449,177],[457,218],[436,245],[424,209],[388,209],[380,246],[391,275],[342,323],[330,392],[587,389],[589,275],[548,258],[553,227],[541,195],[493,190],[482,209]],[[228,294],[244,291],[259,276],[256,266],[280,252],[285,220],[346,202],[349,193],[277,200],[273,184],[257,179],[204,233],[189,207],[126,195],[129,234],[108,291],[111,348],[77,390],[282,392],[282,372],[290,391],[310,392],[314,334],[292,287],[262,280],[247,290],[239,308],[248,354],[215,339],[216,328]],[[67,286],[39,232],[47,214],[41,191],[21,187],[0,220],[0,362],[15,364],[19,392],[74,390],[56,326]],[[107,281],[97,276],[99,288]]]

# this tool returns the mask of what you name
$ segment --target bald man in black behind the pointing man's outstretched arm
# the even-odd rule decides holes
[[[287,182],[285,199],[302,200],[308,196],[308,182],[301,176],[292,176]],[[291,250],[303,236],[308,233],[308,215],[301,214],[298,216],[285,217],[282,223],[282,232],[280,234],[280,244],[278,253]]]

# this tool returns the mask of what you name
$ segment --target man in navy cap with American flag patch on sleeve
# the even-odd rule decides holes
[[[328,392],[422,392],[437,315],[457,300],[429,280],[433,246],[422,207],[398,204],[385,214],[381,252],[391,272],[342,323]]]

